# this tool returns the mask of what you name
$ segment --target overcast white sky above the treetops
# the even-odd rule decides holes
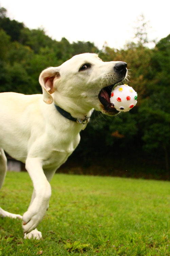
[[[135,21],[143,13],[152,27],[149,39],[170,34],[170,3],[167,0],[0,0],[11,19],[30,29],[42,27],[46,34],[60,41],[90,41],[99,49],[122,48],[133,40]]]

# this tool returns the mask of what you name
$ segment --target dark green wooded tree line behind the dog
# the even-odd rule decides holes
[[[145,23],[137,28],[136,41],[123,49],[107,45],[98,49],[91,42],[56,41],[43,29],[25,27],[6,16],[0,8],[0,92],[42,93],[39,74],[49,66],[59,66],[73,55],[99,53],[103,61],[125,61],[130,71],[129,85],[138,93],[138,103],[130,112],[108,117],[97,111],[81,132],[81,143],[70,157],[83,170],[96,163],[96,174],[152,173],[168,178],[170,143],[170,35],[155,47],[148,47]],[[143,30],[141,30],[143,28]],[[85,171],[84,171],[85,172]],[[130,172],[131,174],[131,172]]]

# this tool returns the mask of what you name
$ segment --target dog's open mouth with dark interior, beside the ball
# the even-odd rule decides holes
[[[104,112],[108,115],[116,115],[117,113],[119,113],[119,111],[117,111],[113,105],[113,103],[111,103],[110,98],[111,98],[111,92],[113,90],[115,84],[109,85],[104,87],[100,93],[99,93],[99,100],[102,103],[103,107],[104,107]]]

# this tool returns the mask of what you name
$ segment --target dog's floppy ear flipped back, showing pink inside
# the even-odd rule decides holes
[[[53,102],[53,97],[51,96],[54,93],[54,79],[60,78],[60,71],[58,67],[49,67],[43,70],[39,76],[39,83],[43,89],[43,100],[47,104]]]

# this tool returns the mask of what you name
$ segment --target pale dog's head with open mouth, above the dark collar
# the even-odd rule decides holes
[[[110,102],[115,84],[127,76],[125,62],[103,62],[97,54],[75,55],[59,67],[45,69],[39,77],[43,98],[66,111],[87,113],[94,108],[108,115],[118,111]]]

